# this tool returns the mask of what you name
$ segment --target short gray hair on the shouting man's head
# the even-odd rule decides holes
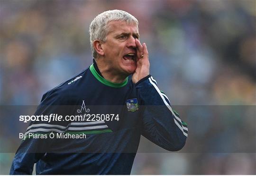
[[[108,23],[110,21],[125,21],[128,24],[137,24],[138,20],[136,17],[132,16],[126,11],[123,10],[108,10],[101,14],[99,14],[97,17],[95,17],[90,25],[90,42],[91,42],[91,51],[92,51],[92,57],[94,59],[97,58],[97,52],[93,48],[93,41],[94,40],[101,40],[102,42],[106,42],[107,34],[109,33],[108,30]]]

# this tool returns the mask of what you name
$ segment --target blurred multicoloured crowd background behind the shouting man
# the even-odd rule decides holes
[[[255,0],[0,0],[0,105],[38,105],[89,67],[89,25],[110,9],[137,17],[150,73],[189,126],[179,152],[145,151],[142,138],[132,174],[255,175]],[[26,126],[11,115],[0,123],[0,174],[9,174],[7,151],[20,142],[11,131]]]

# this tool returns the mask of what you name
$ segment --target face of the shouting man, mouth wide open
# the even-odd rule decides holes
[[[106,42],[101,44],[104,63],[108,64],[113,74],[128,76],[134,73],[137,59],[135,39],[139,37],[137,25],[111,21],[108,29]]]

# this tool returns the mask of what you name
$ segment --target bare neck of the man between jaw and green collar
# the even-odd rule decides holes
[[[102,59],[97,59],[96,63],[101,75],[112,83],[123,83],[127,78],[127,75],[115,72],[114,69],[109,64],[104,63]]]

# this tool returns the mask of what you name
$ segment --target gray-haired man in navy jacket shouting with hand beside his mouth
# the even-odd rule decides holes
[[[183,148],[188,129],[149,75],[138,21],[122,10],[90,25],[93,64],[43,95],[36,115],[86,115],[85,120],[32,121],[26,134],[86,134],[86,138],[28,137],[10,174],[130,174],[140,135],[168,151]],[[94,119],[94,120],[93,120]],[[50,133],[50,134],[49,134]]]

